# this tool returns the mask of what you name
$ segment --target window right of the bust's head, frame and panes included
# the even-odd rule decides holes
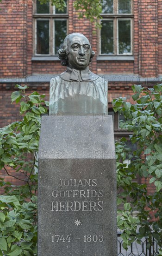
[[[100,55],[132,55],[131,0],[103,0]]]

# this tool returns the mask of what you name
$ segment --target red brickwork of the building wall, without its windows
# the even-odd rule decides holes
[[[157,77],[162,74],[162,1],[134,0],[134,61],[97,61],[98,34],[93,34],[94,24],[78,20],[69,0],[69,31],[85,34],[96,55],[90,69],[98,74],[139,74]],[[158,8],[157,8],[158,7]],[[32,74],[60,74],[65,67],[60,61],[31,61],[34,44],[32,24],[32,0],[2,0],[0,10],[0,77],[22,78]],[[21,119],[19,107],[11,105],[14,83],[0,84],[0,127]],[[20,82],[22,85],[22,83]],[[113,98],[123,96],[132,101],[130,89],[133,82],[109,83],[109,107]],[[32,83],[29,93],[37,90],[49,99],[49,83]]]

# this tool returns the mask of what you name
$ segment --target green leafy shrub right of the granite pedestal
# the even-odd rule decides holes
[[[134,104],[125,98],[112,101],[114,111],[124,115],[120,127],[132,133],[130,141],[137,143],[137,150],[127,147],[126,139],[116,143],[118,205],[124,204],[124,211],[118,210],[118,227],[124,230],[122,237],[127,248],[137,238],[153,238],[162,246],[162,84],[153,88],[132,86]],[[130,164],[125,164],[125,159]],[[144,184],[138,184],[137,177]],[[153,183],[149,193],[148,183]],[[137,217],[132,217],[136,212]],[[139,234],[137,230],[139,226]]]

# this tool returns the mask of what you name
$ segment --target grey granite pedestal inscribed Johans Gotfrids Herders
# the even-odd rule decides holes
[[[117,256],[112,116],[44,116],[38,256]]]

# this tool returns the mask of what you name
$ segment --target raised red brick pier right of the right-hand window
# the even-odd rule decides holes
[[[158,75],[157,39],[158,9],[157,1],[139,1],[138,8],[139,74],[143,77]]]

